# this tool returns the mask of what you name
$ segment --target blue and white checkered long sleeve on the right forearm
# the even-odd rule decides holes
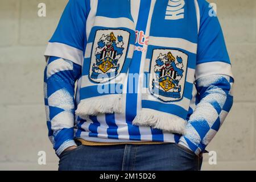
[[[233,77],[209,75],[196,80],[199,102],[188,119],[179,144],[199,155],[216,135],[233,105]]]

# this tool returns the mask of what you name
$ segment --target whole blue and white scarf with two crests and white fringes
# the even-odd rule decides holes
[[[184,133],[195,81],[198,18],[193,0],[156,0],[144,63],[142,109],[133,124]],[[98,0],[82,68],[83,119],[123,113],[122,98],[133,58],[135,23],[130,0]]]

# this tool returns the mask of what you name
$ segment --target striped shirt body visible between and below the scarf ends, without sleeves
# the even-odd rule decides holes
[[[178,135],[163,132],[159,129],[132,125],[132,121],[137,115],[138,110],[141,109],[141,94],[139,93],[142,88],[142,80],[139,78],[139,75],[143,73],[143,63],[146,59],[150,29],[148,15],[153,7],[151,0],[134,1],[131,6],[131,12],[136,24],[136,42],[133,59],[129,67],[129,74],[126,84],[123,86],[123,89],[126,90],[126,97],[123,102],[125,112],[122,114],[113,113],[90,116],[86,121],[76,117],[77,138],[84,138],[94,142],[129,142],[131,140],[133,142],[175,142],[175,138],[178,137]],[[129,84],[127,84],[128,82]],[[77,90],[79,90],[80,85],[81,82],[78,81]],[[195,96],[194,92],[193,96]],[[78,95],[76,95],[76,100],[78,103]]]

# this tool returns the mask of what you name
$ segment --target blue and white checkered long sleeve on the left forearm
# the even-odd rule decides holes
[[[60,57],[49,57],[44,70],[44,102],[48,137],[57,155],[76,146],[74,137],[75,82],[81,66]]]

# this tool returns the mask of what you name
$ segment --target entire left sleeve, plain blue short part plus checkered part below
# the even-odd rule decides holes
[[[89,11],[90,0],[69,0],[44,53],[48,59],[44,71],[48,135],[57,155],[69,146],[76,146],[74,88],[81,75]]]

